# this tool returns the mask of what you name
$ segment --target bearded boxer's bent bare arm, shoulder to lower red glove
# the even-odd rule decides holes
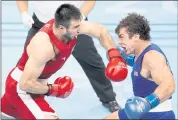
[[[45,94],[48,92],[48,86],[37,80],[46,62],[54,56],[49,37],[45,33],[37,33],[28,45],[27,52],[29,58],[21,76],[19,87],[29,93]]]

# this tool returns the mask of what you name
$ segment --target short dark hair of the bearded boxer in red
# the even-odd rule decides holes
[[[77,7],[71,4],[62,4],[55,12],[55,26],[62,25],[68,28],[71,20],[80,20],[81,18],[82,15]]]

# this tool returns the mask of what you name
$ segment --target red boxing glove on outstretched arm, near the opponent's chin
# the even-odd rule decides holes
[[[116,48],[108,50],[109,63],[105,70],[107,78],[114,82],[120,82],[127,77],[128,69],[124,60],[121,58],[120,52]]]

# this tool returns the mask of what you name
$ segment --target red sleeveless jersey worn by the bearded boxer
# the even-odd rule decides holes
[[[52,74],[57,72],[64,65],[65,61],[71,55],[73,47],[76,45],[76,39],[70,40],[70,43],[67,45],[61,42],[61,40],[59,40],[53,33],[53,29],[52,29],[53,23],[54,23],[54,19],[50,20],[40,29],[40,31],[45,32],[49,35],[51,42],[57,47],[60,53],[57,56],[56,60],[50,60],[46,63],[43,72],[39,77],[41,79],[49,78]],[[41,45],[43,45],[43,43]],[[28,60],[28,55],[25,49],[17,64],[17,67],[23,70],[27,60]]]

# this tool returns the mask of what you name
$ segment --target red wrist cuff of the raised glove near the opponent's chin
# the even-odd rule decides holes
[[[119,58],[119,57],[121,57],[120,52],[116,48],[109,49],[107,51],[107,53],[108,53],[109,60],[112,59],[112,58]]]

